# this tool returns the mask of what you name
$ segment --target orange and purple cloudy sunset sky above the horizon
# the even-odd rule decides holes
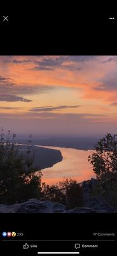
[[[48,137],[117,133],[117,56],[0,56],[0,124]]]

